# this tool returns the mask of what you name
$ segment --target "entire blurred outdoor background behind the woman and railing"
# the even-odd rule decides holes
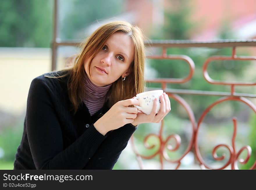
[[[26,99],[33,78],[51,71],[51,42],[53,41],[53,0],[0,0],[0,169],[13,169],[17,147],[21,141],[26,112]],[[199,40],[256,39],[255,0],[59,0],[57,41],[80,42],[101,24],[113,20],[125,20],[137,24],[148,39]],[[78,52],[77,47],[57,48],[57,70],[65,66],[68,57]],[[159,55],[159,49],[148,47],[147,55]],[[187,55],[195,63],[195,73],[189,82],[168,84],[171,89],[230,92],[229,86],[213,85],[205,81],[202,65],[213,55],[231,56],[232,48],[168,48],[168,54]],[[238,47],[237,55],[256,55],[256,47]],[[242,82],[256,81],[255,61],[214,61],[208,72],[213,79]],[[179,60],[146,60],[145,78],[187,76],[189,68]],[[161,87],[147,83],[148,87]],[[236,92],[256,94],[255,86],[237,86]],[[220,97],[180,95],[192,108],[198,122],[203,111]],[[256,104],[255,98],[248,98]],[[179,158],[191,140],[192,127],[185,109],[171,100],[172,111],[164,118],[163,138],[171,134],[181,137],[181,146],[168,152],[170,159]],[[223,102],[205,117],[198,133],[200,153],[212,167],[223,166],[229,159],[227,149],[222,161],[213,159],[211,152],[218,144],[232,145],[233,123],[236,116],[238,131],[237,151],[245,145],[252,148],[248,164],[256,160],[256,114],[240,102]],[[143,139],[150,133],[158,134],[160,124],[141,124],[134,133],[136,148],[143,155],[152,155],[156,144],[146,149]],[[170,141],[170,144],[175,142]],[[246,152],[241,158],[245,157]],[[143,160],[145,169],[159,169],[159,156]],[[165,162],[165,169],[177,164]],[[129,143],[120,155],[114,169],[139,169],[136,155]],[[183,159],[179,169],[200,169],[193,150]],[[229,168],[227,168],[229,169]]]

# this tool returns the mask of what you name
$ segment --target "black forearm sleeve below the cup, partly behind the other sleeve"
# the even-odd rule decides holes
[[[126,124],[112,131],[83,169],[112,169],[136,129]]]

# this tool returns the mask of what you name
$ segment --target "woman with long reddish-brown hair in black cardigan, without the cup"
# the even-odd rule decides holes
[[[161,95],[156,114],[138,113],[144,91],[144,43],[137,26],[99,27],[74,66],[32,80],[14,169],[112,169],[138,124],[170,111]]]

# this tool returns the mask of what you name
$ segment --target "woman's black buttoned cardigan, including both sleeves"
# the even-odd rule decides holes
[[[126,124],[102,135],[93,124],[109,110],[107,102],[93,116],[84,103],[74,115],[68,76],[44,75],[33,79],[29,88],[14,169],[112,169],[137,128]]]

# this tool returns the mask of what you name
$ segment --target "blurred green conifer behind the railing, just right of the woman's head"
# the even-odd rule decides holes
[[[197,23],[193,24],[190,21],[191,6],[188,1],[177,1],[169,0],[170,8],[164,11],[165,21],[161,32],[153,33],[152,39],[189,39],[189,32],[194,30]],[[157,52],[161,54],[161,52]],[[189,48],[168,48],[167,54],[169,55],[188,55],[190,56],[196,64],[195,73],[193,79],[185,84],[169,84],[168,88],[183,88],[183,89],[197,89],[202,90],[202,86],[209,86],[202,78],[202,73],[200,67],[202,66],[202,55],[195,54],[191,52]],[[192,56],[191,56],[192,55]],[[200,65],[198,65],[200,64]],[[183,78],[189,74],[189,67],[184,61],[180,60],[150,60],[150,66],[157,70],[158,77],[167,78]],[[195,85],[193,84],[195,82]],[[158,84],[150,84],[151,87],[159,87]],[[207,89],[205,89],[207,90]],[[194,97],[193,97],[194,98]],[[195,99],[198,99],[195,97]],[[196,100],[193,100],[196,103]],[[209,101],[209,99],[208,99]],[[196,104],[197,107],[193,109],[195,114],[200,112],[200,105]],[[172,107],[177,108],[177,103],[172,102]],[[177,110],[173,109],[172,114],[178,114]]]

